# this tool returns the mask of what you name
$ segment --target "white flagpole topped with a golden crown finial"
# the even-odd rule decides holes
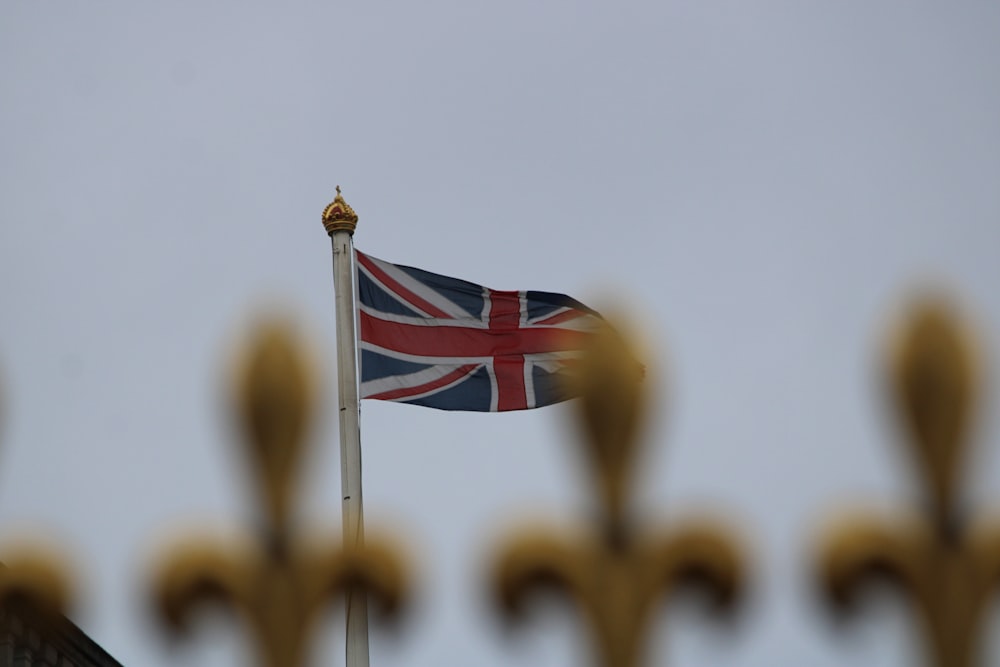
[[[358,398],[358,342],[354,303],[354,230],[358,215],[340,195],[323,210],[323,226],[333,245],[333,288],[337,315],[337,389],[340,413],[340,488],[344,547],[365,541],[361,504],[361,403]],[[347,591],[347,667],[368,667],[368,599]]]

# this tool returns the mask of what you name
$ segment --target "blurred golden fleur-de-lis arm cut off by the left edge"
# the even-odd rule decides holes
[[[0,617],[6,612],[44,623],[71,600],[69,568],[52,549],[17,544],[0,552]]]

